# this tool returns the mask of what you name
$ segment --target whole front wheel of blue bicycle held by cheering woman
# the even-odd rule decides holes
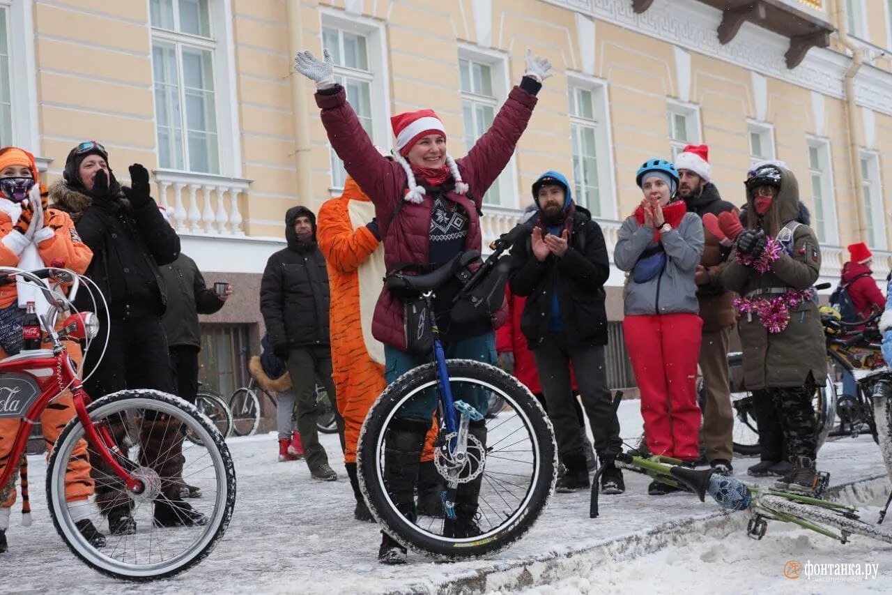
[[[425,390],[439,391],[435,364],[403,374],[369,410],[359,433],[359,486],[378,523],[404,546],[430,557],[483,556],[520,539],[541,514],[558,470],[554,432],[539,402],[513,376],[464,359],[447,360],[447,368],[456,399],[474,391],[492,391],[509,407],[498,418],[484,419],[483,440],[468,435],[464,463],[456,465],[450,460],[448,444],[454,435],[445,428],[441,427],[434,440],[434,464],[442,477],[450,473],[451,467],[456,467],[459,482],[483,476],[475,517],[479,534],[447,537],[445,519],[417,516],[409,520],[401,515],[384,485],[387,430],[414,398],[421,397]]]

